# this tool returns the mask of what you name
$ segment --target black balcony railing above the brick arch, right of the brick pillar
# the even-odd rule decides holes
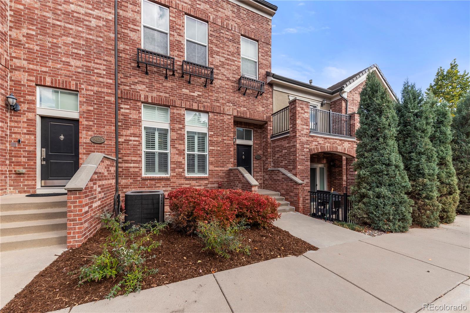
[[[346,114],[310,107],[310,132],[351,136],[351,117]]]

